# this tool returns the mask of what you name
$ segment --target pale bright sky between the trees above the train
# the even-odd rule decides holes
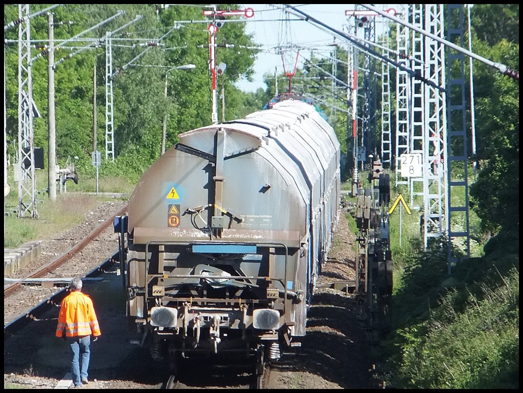
[[[266,50],[258,54],[254,64],[254,81],[248,82],[246,79],[242,79],[236,83],[236,86],[244,91],[265,89],[263,75],[265,73],[274,74],[275,67],[278,68],[278,74],[283,72],[281,55],[276,54],[275,46],[290,44],[302,46],[303,49],[300,50],[298,56],[298,67],[300,67],[304,57],[310,57],[311,50],[317,56],[327,55],[328,52],[332,51],[332,46],[328,47],[327,44],[344,42],[338,36],[334,41],[333,34],[321,30],[313,23],[304,20],[282,21],[281,19],[287,18],[298,19],[297,16],[288,15],[282,11],[282,4],[243,4],[242,6],[244,8],[241,9],[254,9],[254,16],[245,18],[246,32],[253,33],[254,41]],[[292,4],[292,6],[340,31],[344,31],[343,27],[347,25],[345,10],[355,9],[355,4]],[[381,9],[388,8],[386,5],[379,6]],[[270,48],[272,49],[269,52]],[[297,50],[291,50],[286,55],[286,70],[288,72],[294,67],[296,57]]]

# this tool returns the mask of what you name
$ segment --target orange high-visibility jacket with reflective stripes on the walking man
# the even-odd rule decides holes
[[[89,296],[74,291],[62,300],[56,337],[62,337],[64,329],[67,337],[101,335],[93,301]]]

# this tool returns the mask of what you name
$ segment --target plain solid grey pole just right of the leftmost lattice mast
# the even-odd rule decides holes
[[[48,75],[48,127],[49,127],[49,139],[48,139],[48,186],[49,186],[49,199],[56,200],[56,135],[55,135],[55,120],[54,120],[54,27],[53,27],[53,14],[49,13],[49,55],[47,65]]]

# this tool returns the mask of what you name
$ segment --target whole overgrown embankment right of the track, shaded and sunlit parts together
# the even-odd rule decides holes
[[[406,196],[406,189],[391,188],[391,203]],[[454,190],[452,204],[464,205],[464,188]],[[433,239],[424,251],[422,212],[403,211],[400,246],[398,209],[390,217],[394,295],[380,353],[383,379],[395,388],[518,388],[518,234],[489,242],[485,257],[488,236],[470,210],[473,258],[449,276],[448,239]],[[461,217],[452,220],[454,230],[465,229]]]

